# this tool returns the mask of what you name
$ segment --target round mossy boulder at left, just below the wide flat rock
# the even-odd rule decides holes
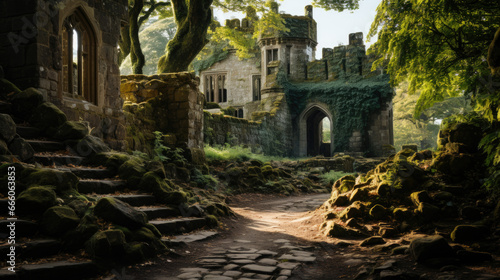
[[[40,216],[57,204],[56,193],[49,187],[34,186],[19,194],[16,199],[18,213]]]

